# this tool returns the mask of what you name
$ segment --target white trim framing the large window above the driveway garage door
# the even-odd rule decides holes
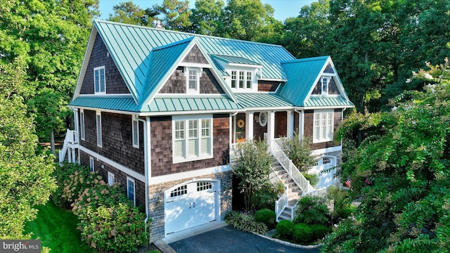
[[[209,150],[209,155],[202,155],[201,150],[201,140],[202,140],[202,119],[210,119],[210,137],[209,137],[209,145],[210,145],[210,150]],[[188,155],[188,141],[189,141],[189,120],[197,120],[198,124],[197,124],[197,139],[198,139],[198,156],[197,157],[189,157]],[[184,122],[184,154],[186,157],[175,157],[175,148],[173,148],[175,146],[175,122],[178,121],[183,121]],[[205,159],[210,159],[212,157],[214,157],[213,155],[213,151],[214,151],[214,147],[213,147],[213,140],[214,140],[214,136],[213,136],[213,118],[212,115],[198,115],[198,116],[174,116],[172,117],[172,162],[175,163],[180,163],[180,162],[190,162],[190,161],[196,161],[196,160],[205,160]]]

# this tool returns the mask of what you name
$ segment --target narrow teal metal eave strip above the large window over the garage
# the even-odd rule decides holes
[[[148,112],[189,112],[203,110],[238,110],[233,100],[221,98],[154,98],[145,107]]]

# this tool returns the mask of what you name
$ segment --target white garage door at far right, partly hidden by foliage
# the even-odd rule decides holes
[[[332,186],[335,183],[336,157],[321,157],[316,166],[308,170],[308,174],[319,174],[316,188]]]

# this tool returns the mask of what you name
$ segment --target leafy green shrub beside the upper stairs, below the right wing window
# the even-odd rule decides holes
[[[283,151],[290,160],[293,160],[293,164],[300,171],[306,171],[316,163],[311,155],[311,140],[309,138],[300,140],[299,136],[295,134],[293,138],[283,139],[283,145]]]

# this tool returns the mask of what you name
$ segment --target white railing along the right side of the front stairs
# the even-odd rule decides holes
[[[272,141],[272,153],[278,162],[281,164],[281,167],[288,172],[289,176],[293,179],[293,181],[297,184],[297,186],[302,190],[303,193],[309,193],[313,190],[316,190],[311,183],[307,179],[304,178],[303,174],[300,172],[297,167],[293,164],[293,161],[289,159],[289,157],[283,152],[278,145],[282,140],[275,139]]]

